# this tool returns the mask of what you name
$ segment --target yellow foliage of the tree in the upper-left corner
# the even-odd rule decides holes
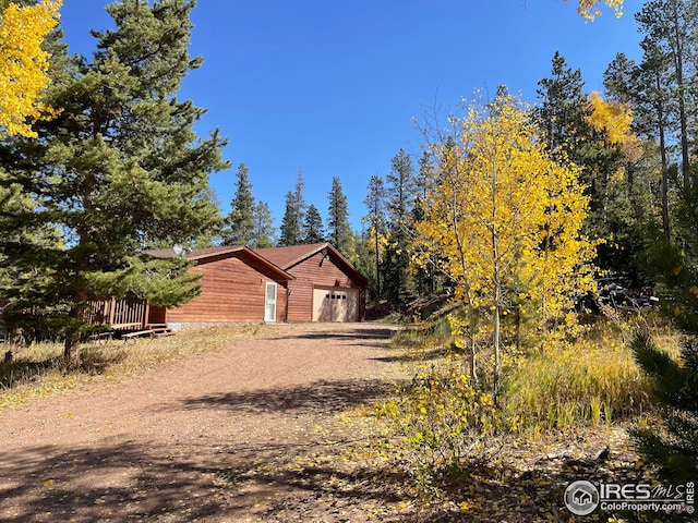
[[[0,13],[0,137],[36,136],[32,123],[47,110],[39,96],[50,81],[41,44],[58,24],[60,7],[61,0],[12,2]]]

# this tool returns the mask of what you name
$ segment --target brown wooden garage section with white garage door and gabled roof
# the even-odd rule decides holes
[[[369,281],[329,243],[255,251],[293,277],[289,321],[360,321]]]

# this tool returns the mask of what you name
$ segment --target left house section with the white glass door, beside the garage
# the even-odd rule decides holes
[[[172,248],[147,251],[153,257],[172,257]],[[287,320],[288,283],[293,277],[254,251],[213,247],[185,256],[203,273],[202,292],[179,307],[151,306],[148,324],[277,323]]]

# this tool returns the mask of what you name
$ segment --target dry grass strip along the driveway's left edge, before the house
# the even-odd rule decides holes
[[[12,362],[0,363],[0,410],[36,398],[65,393],[95,380],[115,380],[139,375],[164,362],[217,351],[241,339],[274,336],[277,326],[227,325],[179,332],[158,339],[112,340],[85,343],[65,362],[62,344],[0,345],[11,350]],[[1,356],[2,354],[0,354]]]

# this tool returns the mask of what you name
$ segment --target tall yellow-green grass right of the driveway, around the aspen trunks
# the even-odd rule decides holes
[[[505,353],[508,368],[500,398],[504,413],[516,416],[518,426],[532,434],[646,414],[649,385],[626,343],[639,326],[649,328],[657,344],[672,357],[679,357],[681,336],[664,321],[600,318],[574,341],[552,340],[528,355]],[[438,365],[452,354],[447,325],[438,323],[406,329],[394,342],[400,346],[400,360],[412,365],[408,374],[417,372],[421,362]],[[486,345],[481,349],[481,376],[491,374],[491,352]]]

